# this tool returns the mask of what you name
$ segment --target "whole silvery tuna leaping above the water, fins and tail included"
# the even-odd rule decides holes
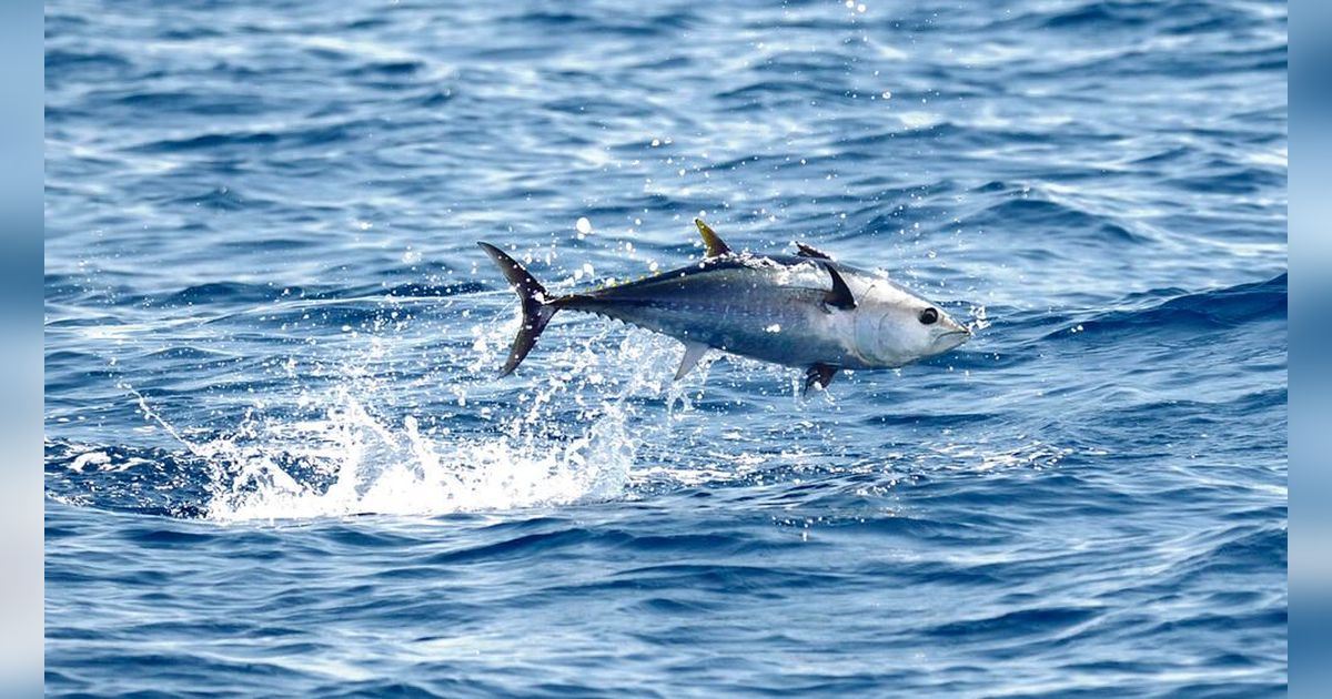
[[[523,326],[501,375],[513,371],[558,310],[595,313],[685,344],[677,378],[718,349],[807,370],[806,387],[840,369],[890,369],[947,351],[970,336],[934,304],[887,277],[799,254],[734,253],[695,221],[709,256],[639,281],[551,297],[513,258],[482,242],[523,300]]]

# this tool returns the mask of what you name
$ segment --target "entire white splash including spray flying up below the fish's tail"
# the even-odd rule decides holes
[[[494,334],[506,332],[498,330]],[[488,334],[490,334],[488,332]],[[589,338],[583,351],[561,357],[545,385],[527,394],[513,417],[496,419],[494,431],[425,430],[408,414],[377,414],[373,401],[392,386],[349,381],[328,395],[305,398],[328,405],[324,415],[305,419],[269,417],[254,409],[221,437],[198,438],[178,430],[139,398],[141,413],[206,465],[210,483],[208,517],[214,521],[278,521],[356,514],[437,515],[460,511],[559,506],[623,497],[642,426],[633,422],[635,395],[687,398],[670,385],[678,349],[635,333],[614,353],[614,363],[639,367],[626,381],[607,381],[598,354],[603,338]],[[597,351],[601,350],[601,351]],[[489,359],[489,357],[485,357]],[[562,363],[562,362],[557,362]],[[698,381],[706,377],[701,371]],[[589,401],[582,382],[611,395]],[[586,378],[590,377],[590,378]],[[574,385],[578,383],[578,385]],[[693,382],[690,382],[693,383]],[[465,389],[446,387],[454,394]],[[545,429],[551,403],[577,401],[586,422],[573,434]],[[460,405],[466,399],[460,394]],[[591,403],[591,405],[589,405]],[[673,411],[674,413],[674,411]],[[567,430],[566,430],[567,433]]]

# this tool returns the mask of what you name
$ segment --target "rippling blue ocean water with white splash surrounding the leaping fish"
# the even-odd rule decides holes
[[[47,691],[1287,686],[1287,12],[47,4]],[[517,301],[807,241],[976,329],[798,397]],[[586,224],[578,221],[586,218]]]

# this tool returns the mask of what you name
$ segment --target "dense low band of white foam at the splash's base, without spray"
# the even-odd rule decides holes
[[[326,421],[285,438],[198,445],[213,465],[212,519],[288,519],[364,513],[432,515],[563,505],[619,495],[634,461],[623,413],[610,410],[563,445],[509,435],[425,435],[417,419],[384,425],[350,395]],[[296,478],[270,458],[314,466]]]

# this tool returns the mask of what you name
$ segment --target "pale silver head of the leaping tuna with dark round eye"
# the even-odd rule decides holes
[[[891,284],[871,286],[855,314],[856,351],[876,366],[943,354],[971,338],[971,330],[936,304]]]

